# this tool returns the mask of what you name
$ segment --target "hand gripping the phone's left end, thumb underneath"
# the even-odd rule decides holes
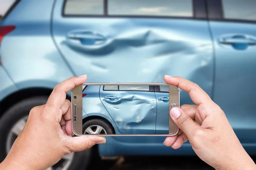
[[[47,169],[69,153],[106,142],[105,137],[100,136],[69,136],[73,135],[72,108],[66,93],[86,79],[85,75],[61,82],[55,86],[45,105],[32,108],[25,127],[0,169]]]

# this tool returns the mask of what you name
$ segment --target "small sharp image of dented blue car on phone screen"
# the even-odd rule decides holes
[[[84,134],[168,134],[168,85],[87,85]]]

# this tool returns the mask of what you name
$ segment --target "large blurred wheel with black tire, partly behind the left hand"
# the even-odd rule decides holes
[[[32,97],[18,102],[10,108],[0,119],[0,162],[9,153],[13,142],[26,124],[29,111],[38,105],[47,102],[46,96]],[[64,156],[60,161],[50,167],[50,170],[85,169],[92,156],[97,153],[96,147]]]

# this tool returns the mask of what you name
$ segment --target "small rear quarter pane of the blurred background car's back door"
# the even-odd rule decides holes
[[[64,14],[67,15],[103,15],[104,0],[67,0]]]

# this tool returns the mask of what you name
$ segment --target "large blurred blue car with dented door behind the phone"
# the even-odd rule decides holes
[[[12,1],[0,22],[0,161],[30,109],[45,104],[64,79],[83,74],[87,82],[164,82],[165,74],[189,79],[223,109],[245,150],[256,154],[255,0]],[[182,104],[193,104],[184,91]],[[109,136],[52,169],[85,168],[94,153],[195,154],[189,142],[173,150],[164,139]]]

